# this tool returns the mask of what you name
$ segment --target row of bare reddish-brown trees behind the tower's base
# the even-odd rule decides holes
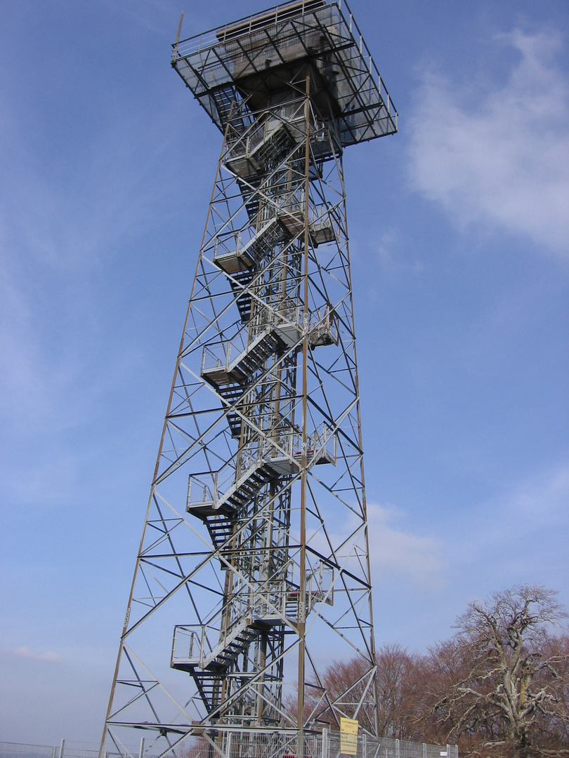
[[[569,756],[569,632],[559,627],[567,614],[555,595],[524,585],[471,603],[454,636],[426,654],[384,645],[376,654],[379,734],[458,744],[465,758]],[[334,701],[351,686],[345,715],[371,726],[371,713],[356,713],[367,668],[354,658],[326,669],[309,688],[316,721],[335,725]]]

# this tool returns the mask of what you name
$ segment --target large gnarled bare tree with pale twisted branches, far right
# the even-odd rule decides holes
[[[485,735],[525,758],[541,748],[534,725],[554,714],[566,719],[560,682],[567,650],[551,650],[549,630],[567,614],[555,594],[523,585],[470,603],[454,639],[432,650],[439,665],[432,713],[448,738]]]

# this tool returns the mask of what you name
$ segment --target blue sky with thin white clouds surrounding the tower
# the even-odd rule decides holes
[[[0,739],[91,741],[220,136],[178,2],[0,7]],[[425,650],[492,590],[569,606],[569,6],[351,9],[400,113],[345,153],[376,638]]]

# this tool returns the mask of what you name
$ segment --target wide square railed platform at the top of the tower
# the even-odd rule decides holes
[[[311,99],[342,147],[397,131],[397,111],[345,2],[276,5],[174,44],[172,66],[214,124],[253,114],[310,70]]]

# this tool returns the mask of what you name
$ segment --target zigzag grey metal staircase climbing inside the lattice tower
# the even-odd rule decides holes
[[[226,340],[206,344],[201,377],[227,404],[225,418],[231,437],[239,440],[239,449],[219,471],[190,475],[186,510],[206,526],[212,555],[218,558],[222,570],[231,569],[226,574],[228,586],[235,572],[256,571],[244,568],[252,560],[249,540],[253,537],[243,525],[258,512],[269,484],[283,487],[287,479],[290,481],[300,471],[303,455],[307,468],[323,463],[336,465],[336,438],[326,424],[305,438],[303,453],[302,433],[292,416],[288,418],[278,412],[278,403],[276,411],[261,411],[247,393],[247,387],[265,381],[262,372],[279,365],[278,356],[283,356],[287,349],[293,348],[291,361],[296,362],[294,356],[305,328],[311,349],[338,344],[335,316],[328,305],[322,309],[322,315],[320,311],[309,315],[306,323],[300,301],[283,291],[277,302],[274,295],[268,296],[267,290],[263,290],[266,282],[263,267],[274,261],[279,246],[298,245],[295,240],[302,242],[306,229],[314,248],[336,239],[326,205],[310,202],[308,207],[303,185],[279,183],[281,180],[272,176],[271,167],[285,160],[285,156],[294,155],[297,146],[303,143],[306,128],[303,106],[285,103],[268,117],[251,126],[244,125],[240,135],[230,137],[223,158],[225,167],[236,176],[249,225],[229,238],[218,237],[213,262],[228,277],[241,324],[247,324],[247,343]],[[210,484],[201,481],[203,476]],[[197,497],[190,497],[193,481]],[[174,629],[171,666],[190,673],[207,713],[220,709],[228,688],[234,686],[232,678],[244,684],[252,676],[239,661],[247,659],[256,639],[273,628],[282,628],[285,619],[294,625],[299,618],[300,590],[288,577],[288,549],[273,547],[268,560],[266,571],[275,576],[279,587],[276,596],[269,589],[270,583],[263,582],[262,587],[257,584],[256,602],[250,599],[240,607],[242,598],[237,602],[233,597],[220,612],[216,628],[201,625],[197,631],[186,627]],[[307,572],[307,587],[312,586],[311,581]],[[310,612],[316,597],[321,596],[322,593],[317,596],[307,592],[305,611]],[[231,616],[234,618],[230,620]],[[174,656],[178,636],[188,634],[187,654]],[[215,639],[213,645],[209,637]]]

